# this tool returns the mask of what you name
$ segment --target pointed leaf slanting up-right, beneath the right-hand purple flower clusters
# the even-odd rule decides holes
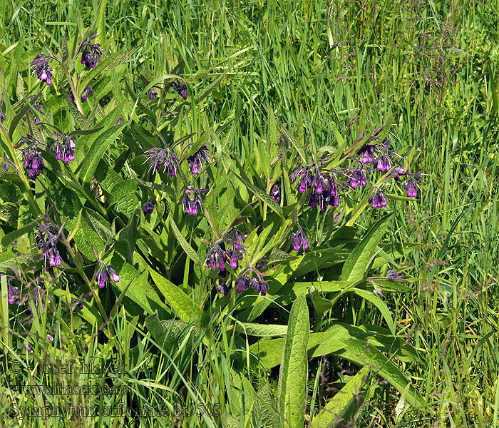
[[[393,213],[380,218],[364,236],[364,239],[354,248],[349,257],[345,260],[341,270],[341,279],[345,281],[357,281],[366,277],[371,260],[376,254],[376,248],[381,241],[388,221]]]

